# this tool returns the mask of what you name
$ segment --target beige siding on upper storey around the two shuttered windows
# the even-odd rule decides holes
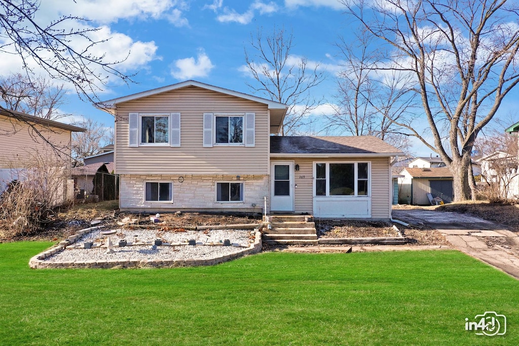
[[[255,113],[255,146],[202,146],[203,113]],[[180,113],[181,146],[128,147],[129,113]],[[117,174],[268,174],[267,106],[187,87],[117,105]]]

